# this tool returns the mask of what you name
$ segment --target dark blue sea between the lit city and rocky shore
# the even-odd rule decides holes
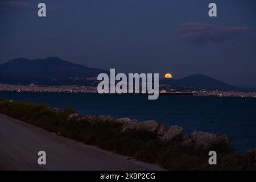
[[[256,148],[256,98],[110,95],[85,93],[0,92],[0,98],[70,107],[80,114],[112,115],[144,121],[154,119],[164,126],[179,125],[184,133],[192,130],[226,134],[242,152]]]

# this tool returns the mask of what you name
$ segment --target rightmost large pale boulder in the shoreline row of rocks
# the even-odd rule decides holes
[[[203,131],[195,131],[191,133],[191,139],[195,143],[195,148],[207,149],[217,139],[217,136]]]

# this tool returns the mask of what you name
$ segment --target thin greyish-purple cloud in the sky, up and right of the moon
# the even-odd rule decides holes
[[[204,24],[187,22],[179,26],[179,34],[182,39],[196,44],[223,43],[228,40],[246,38],[251,35],[253,28],[220,26],[216,24]]]

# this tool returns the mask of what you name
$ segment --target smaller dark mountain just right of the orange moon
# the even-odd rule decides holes
[[[172,86],[201,88],[209,90],[244,91],[240,88],[237,88],[236,86],[226,84],[225,82],[202,74],[191,75],[176,80],[161,79],[160,84],[170,84]]]

